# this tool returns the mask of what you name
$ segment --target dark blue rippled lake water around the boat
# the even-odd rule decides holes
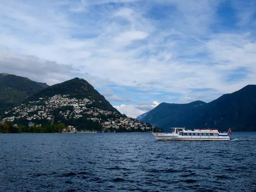
[[[256,191],[256,132],[0,134],[0,191]]]

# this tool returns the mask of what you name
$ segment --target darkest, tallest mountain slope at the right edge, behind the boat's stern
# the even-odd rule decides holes
[[[210,102],[195,124],[220,130],[256,131],[256,85],[247,85],[239,91],[224,94]]]

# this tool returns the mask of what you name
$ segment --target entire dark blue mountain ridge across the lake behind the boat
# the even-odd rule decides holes
[[[142,121],[157,123],[165,131],[169,131],[169,127],[256,131],[256,85],[247,85],[210,103],[161,103],[149,111]]]

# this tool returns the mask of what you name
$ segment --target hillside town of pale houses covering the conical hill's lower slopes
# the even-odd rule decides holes
[[[86,116],[88,121],[98,122],[101,125],[101,132],[135,131],[138,129],[141,131],[151,131],[149,124],[126,116],[120,116],[116,111],[92,107],[93,102],[95,101],[90,100],[90,98],[70,98],[68,94],[54,95],[48,99],[38,98],[37,101],[29,101],[26,104],[23,103],[9,111],[5,111],[1,116],[0,124],[4,124],[6,121],[17,122],[19,119],[26,119],[29,122],[27,126],[31,127],[41,126],[41,124],[34,123],[40,120],[47,120],[51,124],[56,123],[54,122],[56,116],[58,116],[58,119],[63,120],[79,119]],[[56,109],[58,111],[57,115]],[[58,123],[60,122],[58,121]],[[17,126],[17,124],[14,124],[14,126]],[[66,124],[62,132],[86,132],[88,130],[90,130],[89,132],[94,132],[91,129],[86,127],[83,130],[79,130],[72,124]]]

